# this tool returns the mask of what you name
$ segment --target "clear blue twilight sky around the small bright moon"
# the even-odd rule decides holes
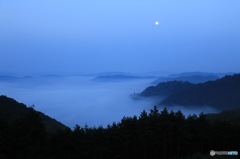
[[[239,0],[1,0],[0,73],[240,72],[239,6]]]

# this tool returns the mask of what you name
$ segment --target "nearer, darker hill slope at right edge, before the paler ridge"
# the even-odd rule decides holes
[[[208,105],[219,109],[240,107],[240,74],[225,76],[216,81],[196,84],[170,94],[164,105]]]

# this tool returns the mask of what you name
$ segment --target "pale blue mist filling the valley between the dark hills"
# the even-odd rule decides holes
[[[13,82],[0,82],[2,95],[7,95],[28,106],[34,105],[63,124],[73,127],[106,126],[118,122],[123,116],[139,115],[150,110],[158,100],[134,100],[130,94],[141,92],[153,79],[136,79],[124,82],[97,82],[93,77],[44,77]],[[163,106],[160,106],[160,110]],[[184,107],[171,107],[185,115],[214,112]]]

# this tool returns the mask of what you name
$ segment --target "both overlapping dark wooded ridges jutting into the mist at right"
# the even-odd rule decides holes
[[[212,106],[220,110],[239,108],[240,74],[199,84],[182,81],[163,82],[148,87],[140,95],[164,97],[160,104],[168,106]]]

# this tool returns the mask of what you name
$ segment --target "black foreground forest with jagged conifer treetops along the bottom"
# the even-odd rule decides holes
[[[1,159],[200,159],[209,158],[210,150],[239,152],[240,148],[240,122],[218,120],[213,114],[185,117],[181,111],[160,111],[155,106],[106,128],[60,126],[53,133],[33,107],[22,112],[24,104],[5,96],[0,105],[17,109],[14,118],[8,109],[0,111]]]

